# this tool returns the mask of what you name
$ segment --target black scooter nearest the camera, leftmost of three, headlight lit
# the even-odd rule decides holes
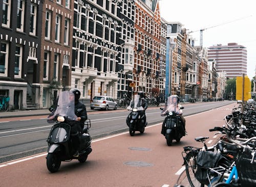
[[[81,112],[83,109],[78,109],[77,112]],[[83,117],[81,116],[81,119]],[[53,125],[48,142],[48,154],[47,154],[47,168],[50,172],[57,172],[61,161],[71,161],[72,159],[78,159],[80,163],[84,163],[87,160],[88,155],[92,152],[91,148],[91,136],[89,135],[89,129],[91,127],[91,121],[88,119],[84,122],[84,128],[80,135],[79,155],[74,157],[74,149],[72,147],[72,138],[70,135],[71,124],[74,120],[70,120],[65,115],[56,115],[53,119],[57,123]]]

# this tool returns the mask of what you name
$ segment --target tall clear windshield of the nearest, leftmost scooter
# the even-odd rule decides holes
[[[73,92],[63,91],[59,93],[57,108],[51,118],[57,116],[66,116],[71,120],[75,120],[75,95]],[[49,117],[48,117],[49,118]]]

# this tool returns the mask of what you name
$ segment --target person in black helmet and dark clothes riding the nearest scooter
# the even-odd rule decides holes
[[[71,126],[71,138],[73,142],[73,148],[75,150],[75,153],[73,156],[78,156],[78,153],[79,153],[78,149],[80,145],[80,133],[83,129],[84,121],[87,120],[87,112],[86,112],[86,106],[79,101],[81,92],[76,88],[71,89],[70,92],[73,92],[75,96],[74,98],[75,99],[75,115],[77,116],[76,122]],[[70,95],[70,97],[72,97],[72,95]],[[78,109],[83,109],[83,111],[78,113],[77,112]],[[82,119],[81,119],[81,116],[83,116]]]

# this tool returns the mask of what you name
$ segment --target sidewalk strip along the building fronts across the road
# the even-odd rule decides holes
[[[187,103],[190,103],[190,102],[181,103],[181,105],[187,104]],[[164,106],[164,103],[161,103],[160,106]],[[156,107],[156,105],[150,105],[148,107]],[[117,110],[121,110],[121,109],[125,109],[125,108],[117,108]],[[86,110],[87,110],[87,112],[97,111],[97,110],[91,110],[90,104],[86,104]],[[49,115],[49,114],[50,114],[50,111],[48,109],[25,110],[25,111],[16,110],[16,111],[8,111],[8,112],[1,111],[0,118],[15,118],[15,117],[41,116],[41,115],[44,116],[44,115]]]

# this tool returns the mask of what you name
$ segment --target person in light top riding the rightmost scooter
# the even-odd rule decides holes
[[[181,108],[181,105],[179,104],[180,102],[180,98],[179,96],[177,95],[172,95],[172,104],[169,104],[168,105],[168,108],[166,108],[165,111],[163,111],[163,113],[166,113],[166,112],[170,112],[170,111],[174,111],[176,114],[178,114],[178,117],[181,119],[182,121],[182,127],[183,127],[183,132],[184,132],[184,135],[187,135],[187,131],[185,129],[185,124],[186,124],[186,120],[185,118],[182,116],[182,110],[180,109]],[[164,135],[165,133],[165,130],[164,130],[164,124],[162,125],[162,130],[161,130],[161,133]]]

